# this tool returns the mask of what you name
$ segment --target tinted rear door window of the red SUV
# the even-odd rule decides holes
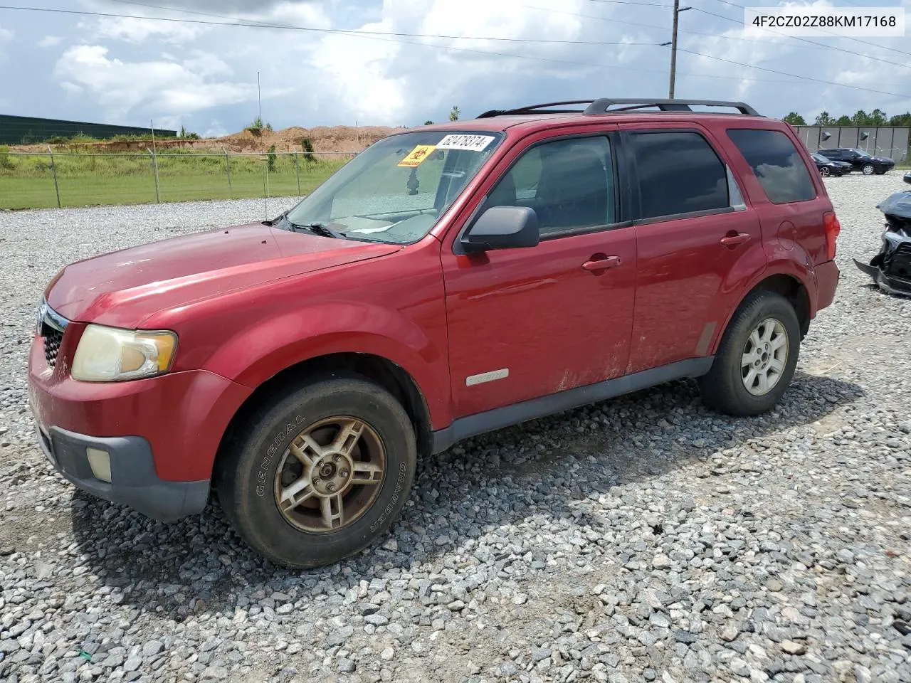
[[[641,218],[732,206],[729,171],[699,133],[633,133],[630,140],[639,171]],[[733,189],[742,204],[736,182]]]

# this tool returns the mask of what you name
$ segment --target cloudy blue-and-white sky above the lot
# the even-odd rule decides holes
[[[256,116],[257,71],[262,116],[276,128],[413,126],[444,120],[454,105],[467,118],[557,99],[667,97],[670,48],[658,44],[670,40],[672,1],[16,0],[0,4],[96,15],[0,9],[0,112],[222,134]],[[808,119],[911,109],[911,34],[746,39],[738,5],[784,3],[683,4],[692,9],[681,13],[677,97],[742,99]],[[904,5],[911,18],[911,0],[789,4]]]

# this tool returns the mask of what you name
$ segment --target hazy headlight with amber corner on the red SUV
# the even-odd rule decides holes
[[[89,325],[79,340],[70,374],[82,382],[152,377],[170,370],[176,349],[174,332]]]

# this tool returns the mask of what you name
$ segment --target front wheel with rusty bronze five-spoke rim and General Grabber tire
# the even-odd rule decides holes
[[[382,387],[326,379],[263,405],[216,487],[243,540],[282,566],[333,564],[384,535],[415,478],[415,430]]]

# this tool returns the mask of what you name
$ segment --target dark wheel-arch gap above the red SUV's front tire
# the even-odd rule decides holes
[[[215,461],[212,464],[213,480],[220,475],[223,461],[230,444],[241,433],[251,415],[261,407],[263,401],[272,400],[282,393],[300,387],[316,378],[333,376],[357,376],[375,382],[390,392],[402,404],[415,427],[418,456],[432,452],[432,423],[430,410],[424,392],[411,373],[395,362],[373,353],[335,352],[326,353],[296,362],[261,382],[230,419],[222,434]]]

